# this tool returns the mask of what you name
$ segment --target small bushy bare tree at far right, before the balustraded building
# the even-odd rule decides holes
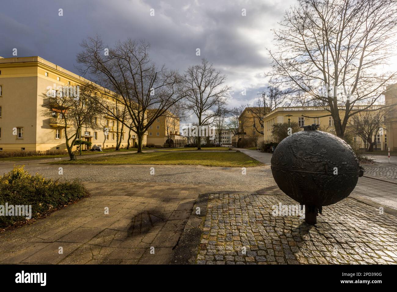
[[[375,136],[379,129],[384,127],[385,115],[386,111],[380,109],[378,111],[363,111],[351,117],[349,128],[354,135],[362,138],[367,151],[374,151],[372,136]]]

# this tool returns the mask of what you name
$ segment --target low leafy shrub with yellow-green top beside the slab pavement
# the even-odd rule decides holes
[[[0,205],[31,205],[33,219],[45,217],[87,195],[87,190],[79,181],[60,183],[58,180],[44,179],[39,174],[32,176],[24,170],[24,166],[14,166],[12,171],[0,177]],[[0,216],[0,227],[23,221],[27,221],[23,216]]]

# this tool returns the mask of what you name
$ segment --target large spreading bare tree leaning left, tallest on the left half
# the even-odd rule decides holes
[[[78,69],[82,74],[93,76],[97,84],[112,90],[114,94],[109,92],[109,98],[125,105],[132,124],[123,123],[116,115],[113,117],[137,134],[138,153],[141,153],[143,136],[150,125],[185,96],[179,87],[181,77],[164,65],[157,67],[148,55],[150,44],[143,41],[118,41],[107,51],[108,47],[96,36],[83,40],[81,46],[84,50],[77,55],[81,64]],[[150,117],[148,109],[156,109]]]

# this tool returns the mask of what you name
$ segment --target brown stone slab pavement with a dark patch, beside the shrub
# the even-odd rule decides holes
[[[87,187],[91,197],[0,234],[0,263],[169,263],[198,194],[210,189],[164,183]]]

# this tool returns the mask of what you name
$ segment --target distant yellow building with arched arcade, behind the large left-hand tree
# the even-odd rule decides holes
[[[156,109],[148,109],[148,117],[153,115]],[[147,144],[156,147],[183,147],[187,144],[187,137],[179,133],[180,120],[170,111],[166,111],[150,125],[147,134]],[[167,145],[168,144],[168,145]]]

